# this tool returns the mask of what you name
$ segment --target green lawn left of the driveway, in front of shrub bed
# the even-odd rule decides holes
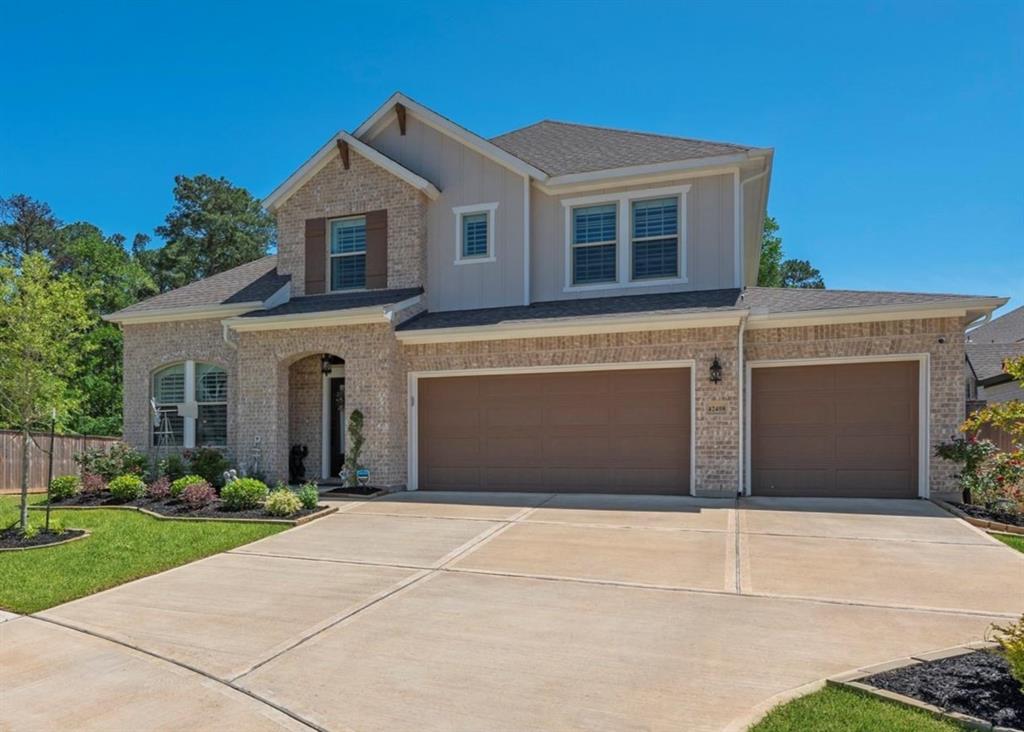
[[[43,497],[32,497],[41,503]],[[0,552],[0,608],[36,612],[202,557],[255,542],[286,526],[228,521],[160,521],[136,511],[53,510],[91,535],[27,552]],[[17,499],[0,498],[0,527],[17,521]],[[31,521],[42,525],[43,512]]]

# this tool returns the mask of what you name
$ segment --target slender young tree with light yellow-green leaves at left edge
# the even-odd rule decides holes
[[[0,266],[0,424],[22,433],[23,530],[29,525],[29,445],[32,430],[74,406],[70,388],[90,322],[85,290],[54,276],[40,254],[20,266]]]

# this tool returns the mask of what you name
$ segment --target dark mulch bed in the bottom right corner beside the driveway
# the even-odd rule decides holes
[[[997,727],[1024,728],[1024,692],[998,653],[977,651],[887,671],[862,681]]]

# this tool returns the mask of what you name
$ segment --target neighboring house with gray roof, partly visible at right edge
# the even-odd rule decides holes
[[[1008,358],[1022,356],[1024,307],[968,331],[968,398],[985,402],[1024,398],[1020,383],[1002,370]]]

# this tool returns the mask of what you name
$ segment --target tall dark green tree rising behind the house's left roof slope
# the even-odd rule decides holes
[[[161,292],[217,274],[266,255],[273,218],[245,188],[225,178],[174,178],[174,208],[157,235],[162,249],[141,259]]]

